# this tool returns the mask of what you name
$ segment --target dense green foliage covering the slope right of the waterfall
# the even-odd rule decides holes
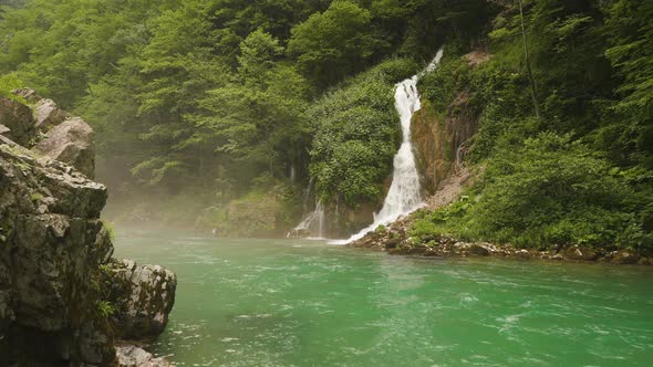
[[[653,7],[644,2],[526,2],[536,117],[518,9],[494,22],[493,60],[449,55],[419,86],[446,113],[471,94],[480,130],[468,156],[480,180],[458,202],[421,213],[412,234],[519,247],[651,247],[650,132]],[[638,50],[635,50],[638,49]]]

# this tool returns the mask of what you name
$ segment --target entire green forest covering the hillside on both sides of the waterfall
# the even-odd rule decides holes
[[[414,238],[653,247],[651,1],[4,3],[0,95],[33,87],[93,126],[124,221],[270,235],[313,201],[377,210],[393,85],[444,45],[418,88],[440,119],[468,95],[477,179]],[[489,61],[470,66],[474,50]]]

